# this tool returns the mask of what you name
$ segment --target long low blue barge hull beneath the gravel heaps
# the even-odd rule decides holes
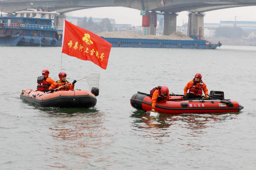
[[[111,43],[112,47],[215,49],[222,45],[220,42],[211,43],[206,40],[102,38]]]

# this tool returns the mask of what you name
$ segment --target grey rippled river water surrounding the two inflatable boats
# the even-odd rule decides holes
[[[254,169],[256,47],[215,50],[112,48],[106,70],[61,55],[60,47],[0,47],[0,169]],[[62,57],[61,57],[62,56]],[[62,62],[61,62],[62,58]],[[70,82],[100,73],[91,109],[42,108],[20,92],[43,69]],[[210,90],[244,106],[240,113],[151,118],[130,106],[137,91],[183,88],[196,72]],[[75,89],[88,90],[86,80]]]

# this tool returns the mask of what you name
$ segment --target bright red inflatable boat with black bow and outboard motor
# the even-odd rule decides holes
[[[217,92],[217,93],[214,93]],[[158,113],[181,114],[181,113],[225,113],[238,112],[244,107],[234,100],[224,99],[224,93],[211,91],[212,96],[208,99],[195,98],[184,100],[183,95],[170,94],[167,102],[157,102],[155,111]],[[221,97],[220,97],[221,94]],[[151,96],[138,92],[130,99],[130,104],[135,109],[150,111]]]

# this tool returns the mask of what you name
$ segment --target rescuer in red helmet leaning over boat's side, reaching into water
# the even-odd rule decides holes
[[[155,111],[156,102],[166,102],[169,100],[169,89],[167,86],[157,86],[150,90],[150,95],[152,96],[152,110]]]

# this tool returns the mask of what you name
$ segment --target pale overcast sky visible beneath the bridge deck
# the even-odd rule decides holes
[[[87,18],[109,18],[114,19],[116,24],[128,23],[135,26],[142,25],[140,10],[124,7],[103,7],[91,8],[66,13],[67,16],[80,16]],[[256,21],[256,6],[227,8],[205,13],[204,23],[220,23],[220,21]],[[188,12],[179,12],[177,16],[177,26],[188,22]]]

